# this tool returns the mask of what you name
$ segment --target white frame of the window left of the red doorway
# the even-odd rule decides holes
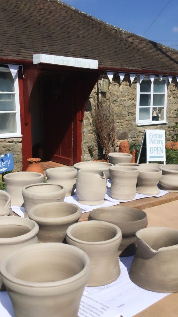
[[[0,67],[0,72],[10,72],[9,68]],[[11,73],[11,72],[10,72]],[[19,100],[19,83],[18,83],[18,71],[14,77],[14,92],[10,91],[1,91],[0,87],[0,94],[14,94],[15,95],[15,111],[0,111],[0,113],[16,113],[16,128],[17,132],[13,133],[0,133],[0,139],[7,139],[7,138],[17,138],[22,137],[21,134],[21,123],[20,123],[20,100]]]

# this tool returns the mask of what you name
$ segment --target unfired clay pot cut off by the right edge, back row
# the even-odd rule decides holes
[[[162,165],[159,169],[162,170],[160,188],[164,191],[178,192],[178,165]]]

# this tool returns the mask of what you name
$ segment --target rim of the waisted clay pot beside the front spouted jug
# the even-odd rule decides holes
[[[105,226],[109,226],[110,228],[114,228],[116,229],[116,235],[109,239],[109,240],[104,240],[104,241],[84,241],[84,240],[80,240],[80,239],[77,239],[75,237],[73,237],[72,233],[70,232],[70,230],[73,229],[73,227],[79,227],[79,226],[92,226],[93,223],[97,223],[98,225],[105,225]],[[97,229],[96,229],[97,230]],[[77,242],[77,243],[82,243],[82,244],[85,244],[85,245],[103,245],[105,243],[113,243],[114,241],[117,241],[120,236],[122,237],[122,232],[120,230],[120,228],[118,226],[116,226],[115,224],[112,224],[112,223],[109,223],[109,222],[106,222],[106,221],[101,221],[101,220],[90,220],[90,221],[81,221],[81,222],[77,222],[77,223],[73,223],[70,227],[67,228],[67,231],[66,231],[66,236],[69,237],[69,239],[71,239],[72,241],[74,242]]]

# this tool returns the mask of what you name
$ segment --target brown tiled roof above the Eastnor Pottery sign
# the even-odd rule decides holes
[[[99,68],[178,74],[178,51],[57,0],[0,1],[0,59],[33,54],[99,60]]]

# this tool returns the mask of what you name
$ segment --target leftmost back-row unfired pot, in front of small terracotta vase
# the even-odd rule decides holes
[[[15,172],[3,176],[7,192],[11,197],[11,204],[22,206],[22,188],[29,184],[42,183],[44,175],[36,172]]]

